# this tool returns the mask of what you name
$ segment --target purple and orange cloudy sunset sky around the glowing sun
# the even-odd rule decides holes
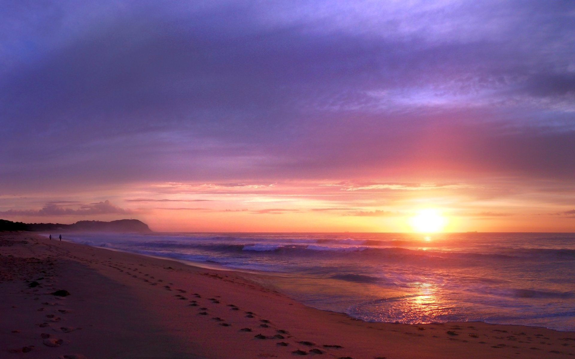
[[[0,6],[0,218],[575,232],[574,1]]]

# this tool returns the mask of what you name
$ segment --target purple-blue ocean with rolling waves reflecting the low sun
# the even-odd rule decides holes
[[[574,233],[67,234],[255,272],[310,307],[368,322],[481,321],[575,331]]]

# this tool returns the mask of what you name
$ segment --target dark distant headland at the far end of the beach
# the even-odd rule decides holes
[[[71,225],[61,223],[22,223],[0,219],[0,231],[62,231],[62,232],[116,232],[116,233],[152,233],[150,227],[137,219],[119,219],[118,221],[78,221]]]

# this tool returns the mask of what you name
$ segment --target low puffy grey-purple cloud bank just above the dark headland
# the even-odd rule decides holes
[[[136,211],[122,209],[108,200],[98,203],[83,204],[79,209],[64,208],[59,202],[47,203],[40,210],[7,210],[0,212],[1,215],[28,217],[66,216],[66,215],[101,215],[101,214],[134,214]]]

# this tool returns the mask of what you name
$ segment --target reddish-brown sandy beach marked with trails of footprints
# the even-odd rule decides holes
[[[245,273],[33,233],[0,234],[0,254],[0,358],[575,355],[573,332],[478,322],[366,323],[306,307]],[[70,295],[54,295],[59,290]]]

